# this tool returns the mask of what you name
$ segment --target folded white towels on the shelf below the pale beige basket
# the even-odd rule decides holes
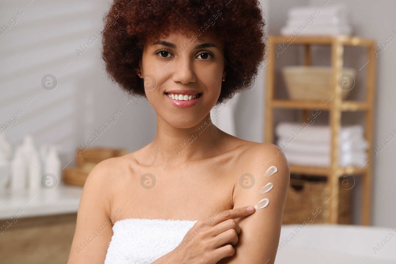
[[[305,127],[301,123],[282,122],[276,126],[276,136],[276,144],[289,164],[318,167],[331,164],[331,129],[328,125],[308,124]],[[341,127],[339,165],[365,165],[368,147],[362,125]]]

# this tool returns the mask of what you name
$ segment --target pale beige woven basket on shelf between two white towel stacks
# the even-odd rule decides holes
[[[333,69],[325,66],[286,66],[282,68],[287,93],[292,100],[328,101],[333,97]],[[349,74],[355,78],[354,68],[344,68],[342,74]],[[350,78],[348,78],[350,79]],[[347,80],[347,79],[343,79]],[[354,80],[349,80],[354,85]],[[348,82],[345,82],[348,84]],[[343,88],[341,96],[345,99],[350,88]],[[341,88],[340,88],[341,89]],[[349,89],[347,91],[347,89]]]

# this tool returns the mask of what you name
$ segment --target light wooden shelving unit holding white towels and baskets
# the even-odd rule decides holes
[[[328,110],[329,125],[331,127],[331,166],[329,167],[308,167],[290,165],[290,173],[299,173],[305,175],[322,175],[327,177],[327,184],[331,194],[334,196],[328,201],[330,203],[330,223],[336,224],[338,219],[339,206],[339,178],[345,173],[351,175],[362,175],[362,224],[370,224],[370,203],[371,203],[371,171],[373,161],[373,118],[374,118],[374,89],[375,89],[375,42],[356,36],[335,36],[335,37],[303,37],[298,36],[291,44],[287,41],[287,36],[268,36],[268,58],[267,58],[267,80],[266,80],[266,100],[265,100],[265,135],[264,141],[274,143],[274,109],[288,108],[301,109],[303,116],[308,116],[308,110]],[[310,45],[320,44],[331,47],[331,67],[333,71],[333,94],[334,96],[328,102],[324,101],[295,101],[274,98],[275,89],[275,48],[277,44],[287,42],[289,45],[305,46],[305,65],[310,65],[311,54]],[[367,47],[368,63],[365,67],[366,74],[366,93],[364,101],[343,101],[341,97],[341,88],[338,86],[338,79],[341,76],[343,68],[343,55],[345,46]],[[365,114],[365,138],[369,142],[367,150],[368,161],[364,167],[339,166],[339,133],[341,128],[341,113],[344,111],[362,111]],[[371,151],[370,151],[371,150]]]

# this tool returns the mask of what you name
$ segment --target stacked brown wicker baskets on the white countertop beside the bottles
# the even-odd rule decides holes
[[[76,152],[76,167],[63,169],[63,182],[84,186],[89,173],[97,163],[109,158],[121,157],[127,153],[126,149],[121,149],[119,152],[112,148],[78,149]]]

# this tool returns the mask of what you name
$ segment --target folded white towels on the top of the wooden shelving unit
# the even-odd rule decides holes
[[[286,26],[280,34],[299,35],[349,35],[352,31],[348,23],[345,4],[334,6],[303,6],[289,9]]]

